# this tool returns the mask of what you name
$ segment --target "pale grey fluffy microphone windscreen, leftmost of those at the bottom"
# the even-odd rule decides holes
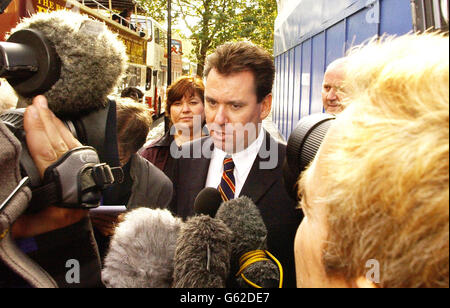
[[[168,210],[138,208],[115,229],[102,280],[110,288],[168,288],[172,285],[178,232]]]

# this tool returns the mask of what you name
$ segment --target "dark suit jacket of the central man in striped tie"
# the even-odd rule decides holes
[[[269,142],[270,141],[270,142]],[[211,153],[214,148],[209,137],[196,140],[189,145],[189,157],[177,160],[177,179],[174,184],[174,202],[177,215],[183,219],[192,216],[197,194],[205,187]],[[199,157],[199,149],[202,155]],[[187,154],[188,150],[183,149]],[[270,156],[268,156],[270,153]],[[294,238],[303,214],[296,209],[285,190],[282,164],[286,146],[277,143],[265,133],[263,146],[257,155],[240,196],[250,197],[261,212],[268,231],[269,251],[281,262],[284,286],[295,287]],[[272,169],[261,168],[261,163],[274,161]]]

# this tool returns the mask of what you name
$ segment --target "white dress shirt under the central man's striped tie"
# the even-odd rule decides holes
[[[264,141],[264,129],[259,131],[258,138],[254,140],[245,150],[231,155],[234,162],[234,179],[235,179],[235,197],[239,197],[248,174],[252,169],[253,163]],[[219,148],[214,147],[211,162],[208,169],[208,177],[206,178],[205,187],[217,188],[220,185],[223,174],[223,160],[229,155]]]

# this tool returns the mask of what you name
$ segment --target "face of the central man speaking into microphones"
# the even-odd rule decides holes
[[[227,153],[248,147],[272,106],[269,94],[257,102],[253,73],[224,76],[212,69],[205,85],[205,116],[214,145]]]

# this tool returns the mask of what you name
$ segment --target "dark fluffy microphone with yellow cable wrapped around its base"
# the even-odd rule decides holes
[[[224,202],[216,218],[233,232],[231,273],[241,288],[282,286],[282,267],[267,251],[267,229],[253,201],[245,196]]]

